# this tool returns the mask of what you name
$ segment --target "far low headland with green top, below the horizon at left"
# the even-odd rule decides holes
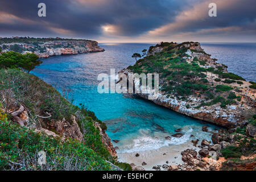
[[[99,47],[98,43],[93,40],[61,38],[2,38],[0,39],[0,43],[2,52],[30,52],[35,53],[39,58],[105,51],[105,49]]]

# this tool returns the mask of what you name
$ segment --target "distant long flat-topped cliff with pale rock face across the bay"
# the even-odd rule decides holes
[[[3,52],[16,51],[21,53],[34,52],[40,58],[55,55],[76,55],[78,53],[102,52],[105,49],[93,40],[55,40],[34,43],[1,44]]]

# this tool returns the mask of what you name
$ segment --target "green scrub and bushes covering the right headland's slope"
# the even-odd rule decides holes
[[[207,60],[200,60],[196,56],[192,61],[186,61],[188,48],[183,47],[185,44],[188,43],[162,42],[155,47],[150,47],[149,51],[156,47],[161,47],[162,51],[143,57],[135,65],[128,67],[128,69],[139,74],[159,73],[161,90],[177,98],[182,97],[183,100],[187,100],[187,97],[191,95],[204,96],[206,100],[200,105],[195,106],[195,108],[217,103],[221,103],[221,107],[234,104],[236,102],[234,99],[237,97],[228,97],[229,94],[226,94],[226,92],[233,90],[234,87],[224,85],[223,83],[233,84],[237,82],[238,84],[243,84],[239,80],[245,81],[245,79],[234,73],[223,72],[226,68],[225,65],[216,68],[210,67]],[[201,50],[189,50],[209,56]],[[205,67],[206,65],[208,65],[207,68]],[[210,78],[209,80],[207,78],[209,73],[211,77],[214,75],[217,78]],[[221,84],[213,84],[213,80],[214,82],[221,82]],[[222,99],[220,100],[220,98]]]

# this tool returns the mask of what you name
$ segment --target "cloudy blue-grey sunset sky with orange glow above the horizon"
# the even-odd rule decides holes
[[[46,4],[46,17],[38,4]],[[209,3],[217,16],[210,17]],[[256,42],[255,0],[0,0],[0,37]]]

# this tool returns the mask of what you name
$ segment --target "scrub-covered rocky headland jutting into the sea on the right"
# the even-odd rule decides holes
[[[159,73],[160,91],[152,102],[215,125],[232,128],[256,113],[254,83],[229,73],[197,42],[157,44],[119,73]]]

